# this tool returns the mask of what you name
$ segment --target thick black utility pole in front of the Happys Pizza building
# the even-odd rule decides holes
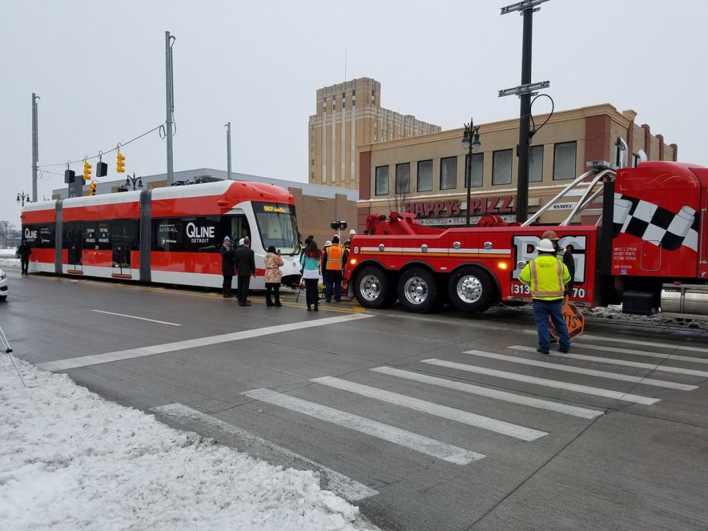
[[[539,11],[536,7],[548,0],[523,0],[511,6],[501,8],[501,14],[521,11],[524,18],[523,38],[521,50],[521,85],[514,89],[499,91],[499,96],[518,94],[521,99],[521,110],[519,115],[519,145],[517,155],[519,157],[518,177],[516,182],[516,221],[523,223],[528,215],[528,195],[529,195],[529,129],[531,125],[531,96],[535,96],[535,89],[544,89],[550,86],[549,81],[541,84],[531,83],[531,45],[533,13]],[[539,86],[540,85],[540,86]]]

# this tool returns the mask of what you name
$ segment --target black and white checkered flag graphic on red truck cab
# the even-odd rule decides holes
[[[676,213],[653,202],[615,193],[612,237],[624,232],[661,245],[667,251],[675,251],[682,245],[697,251],[698,224],[696,211],[691,207],[681,207]]]

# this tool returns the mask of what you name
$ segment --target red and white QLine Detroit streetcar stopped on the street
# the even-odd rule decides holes
[[[279,186],[219,181],[35,202],[22,210],[29,270],[221,287],[219,246],[249,236],[251,289],[265,289],[263,256],[280,250],[282,283],[299,281],[292,194]]]

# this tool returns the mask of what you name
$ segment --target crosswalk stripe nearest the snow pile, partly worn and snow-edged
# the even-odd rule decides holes
[[[286,448],[280,447],[273,442],[258,437],[258,435],[251,433],[250,431],[236,428],[236,426],[233,426],[232,424],[207,415],[206,413],[202,413],[201,411],[197,411],[196,409],[192,409],[184,404],[167,404],[166,406],[152,408],[151,411],[174,418],[177,421],[184,421],[185,419],[190,421],[198,421],[212,428],[216,428],[222,433],[227,433],[228,435],[233,435],[241,440],[251,442],[258,446],[258,449],[260,450],[259,453],[261,453],[261,455],[265,454],[267,457],[270,457],[270,459],[275,458],[276,460],[280,460],[285,457],[287,459],[295,459],[307,463],[309,467],[321,470],[327,475],[327,489],[333,491],[333,493],[336,493],[339,496],[342,496],[343,498],[346,498],[348,501],[362,501],[365,498],[376,496],[379,493],[379,491],[370,489],[370,487],[367,487],[366,485],[361,484],[358,481],[337,472],[336,470],[325,467],[323,464],[312,461],[312,459],[307,459],[307,457],[298,455],[291,450],[287,450]]]

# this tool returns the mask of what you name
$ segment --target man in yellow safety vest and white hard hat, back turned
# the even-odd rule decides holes
[[[542,239],[536,247],[537,258],[527,263],[519,280],[530,287],[533,300],[533,312],[538,331],[537,352],[548,354],[550,332],[548,329],[549,316],[558,333],[559,350],[568,352],[571,340],[568,327],[563,320],[563,299],[566,284],[570,282],[571,275],[566,265],[556,257],[556,249],[549,239]]]

